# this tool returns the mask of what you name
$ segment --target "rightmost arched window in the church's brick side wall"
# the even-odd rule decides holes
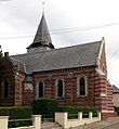
[[[85,95],[85,79],[84,78],[80,78],[79,79],[79,95]]]

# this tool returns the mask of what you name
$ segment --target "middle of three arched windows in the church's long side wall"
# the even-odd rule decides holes
[[[57,96],[64,96],[64,82],[61,79],[57,81]]]

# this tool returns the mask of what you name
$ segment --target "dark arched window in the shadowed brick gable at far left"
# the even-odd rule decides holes
[[[9,82],[8,82],[8,80],[2,81],[2,98],[3,99],[9,98]]]

